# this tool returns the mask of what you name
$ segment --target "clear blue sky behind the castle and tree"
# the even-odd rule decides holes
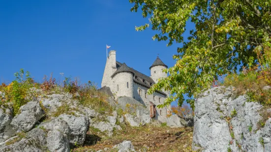
[[[1,0],[0,83],[24,68],[36,81],[51,73],[59,80],[64,73],[100,87],[106,44],[118,61],[148,76],[158,53],[173,66],[181,44],[153,41],[157,31],[151,28],[135,31],[148,19],[130,12],[132,6],[129,0]]]

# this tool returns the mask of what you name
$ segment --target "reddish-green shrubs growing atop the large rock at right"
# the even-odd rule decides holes
[[[234,86],[237,96],[246,94],[250,101],[271,105],[271,91],[263,89],[265,86],[271,86],[271,69],[258,70],[257,67],[243,69],[239,75],[226,76],[223,85]]]

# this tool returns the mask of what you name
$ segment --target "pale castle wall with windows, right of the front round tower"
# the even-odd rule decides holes
[[[141,90],[141,96],[139,95],[139,91]],[[150,107],[150,101],[153,102],[155,105],[161,104],[165,101],[166,96],[162,95],[160,93],[155,92],[154,95],[154,100],[153,100],[153,95],[148,95],[147,98],[145,97],[145,92],[147,93],[148,88],[144,87],[140,84],[137,84],[134,82],[134,91],[133,91],[133,97],[135,100],[140,101],[141,103],[144,103],[148,108]],[[161,102],[159,102],[159,98],[161,99]],[[160,110],[161,110],[161,115],[160,115]],[[167,107],[163,108],[157,108],[156,107],[156,117],[154,119],[160,120],[161,122],[166,121],[166,116],[167,116]]]

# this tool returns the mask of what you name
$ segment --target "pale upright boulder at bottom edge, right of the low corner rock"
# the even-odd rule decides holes
[[[70,152],[67,135],[58,130],[49,131],[46,141],[50,152]]]

